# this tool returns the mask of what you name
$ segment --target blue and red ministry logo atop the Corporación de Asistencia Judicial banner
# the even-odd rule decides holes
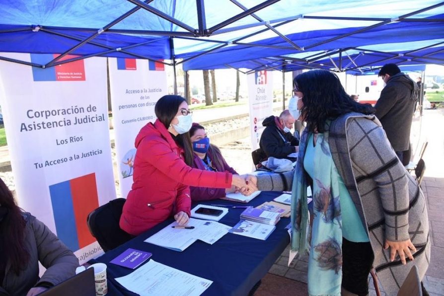
[[[31,54],[31,62],[45,65],[57,58],[58,54]],[[76,58],[77,56],[66,55],[59,61]],[[83,60],[78,60],[50,68],[32,67],[34,81],[85,81],[85,65]]]

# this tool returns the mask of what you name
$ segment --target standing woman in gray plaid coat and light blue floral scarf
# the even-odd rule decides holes
[[[289,110],[307,123],[296,172],[250,180],[259,190],[292,190],[291,248],[309,251],[309,295],[367,295],[372,266],[385,293],[396,295],[412,265],[421,277],[428,267],[423,193],[396,157],[374,109],[351,99],[336,74],[309,71],[293,84]]]

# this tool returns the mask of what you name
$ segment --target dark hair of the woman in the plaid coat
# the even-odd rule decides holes
[[[334,120],[346,113],[375,112],[370,104],[361,104],[351,99],[338,76],[326,70],[299,74],[293,80],[293,86],[303,93],[303,107],[300,112],[310,132],[323,133],[327,120]]]

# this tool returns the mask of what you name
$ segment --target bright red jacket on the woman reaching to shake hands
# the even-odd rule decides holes
[[[188,166],[183,149],[159,120],[141,129],[135,146],[133,186],[120,217],[120,227],[130,234],[139,235],[180,211],[190,216],[190,185],[231,186],[229,173]]]

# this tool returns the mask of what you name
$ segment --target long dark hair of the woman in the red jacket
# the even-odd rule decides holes
[[[171,121],[179,111],[180,104],[186,101],[180,95],[164,95],[157,101],[154,113],[166,129],[169,128]],[[185,163],[191,166],[193,163],[193,147],[191,146],[189,133],[179,134],[176,139],[184,150]]]

